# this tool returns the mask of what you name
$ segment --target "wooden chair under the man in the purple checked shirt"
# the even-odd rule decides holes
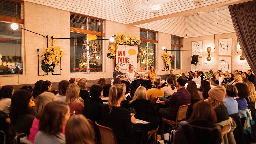
[[[162,118],[162,121],[163,121],[162,139],[163,139],[163,133],[164,133],[164,130],[165,130],[165,124],[170,124],[174,128],[177,125],[179,125],[182,120],[186,120],[187,119],[188,107],[190,105],[191,105],[191,103],[186,104],[186,105],[182,105],[182,106],[179,107],[178,112],[177,112],[177,116],[176,116],[176,121],[172,121],[172,120],[168,120],[166,118]],[[175,125],[175,126],[173,126],[173,125]]]

